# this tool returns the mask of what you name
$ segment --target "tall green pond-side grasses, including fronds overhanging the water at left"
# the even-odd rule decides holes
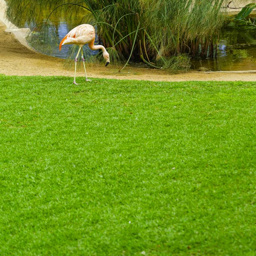
[[[40,22],[42,6],[44,12],[54,10],[55,16],[84,12],[83,22],[97,27],[99,43],[113,60],[143,60],[154,67],[186,70],[188,58],[213,57],[227,1],[9,0],[7,4],[7,17],[16,24],[24,19]]]

